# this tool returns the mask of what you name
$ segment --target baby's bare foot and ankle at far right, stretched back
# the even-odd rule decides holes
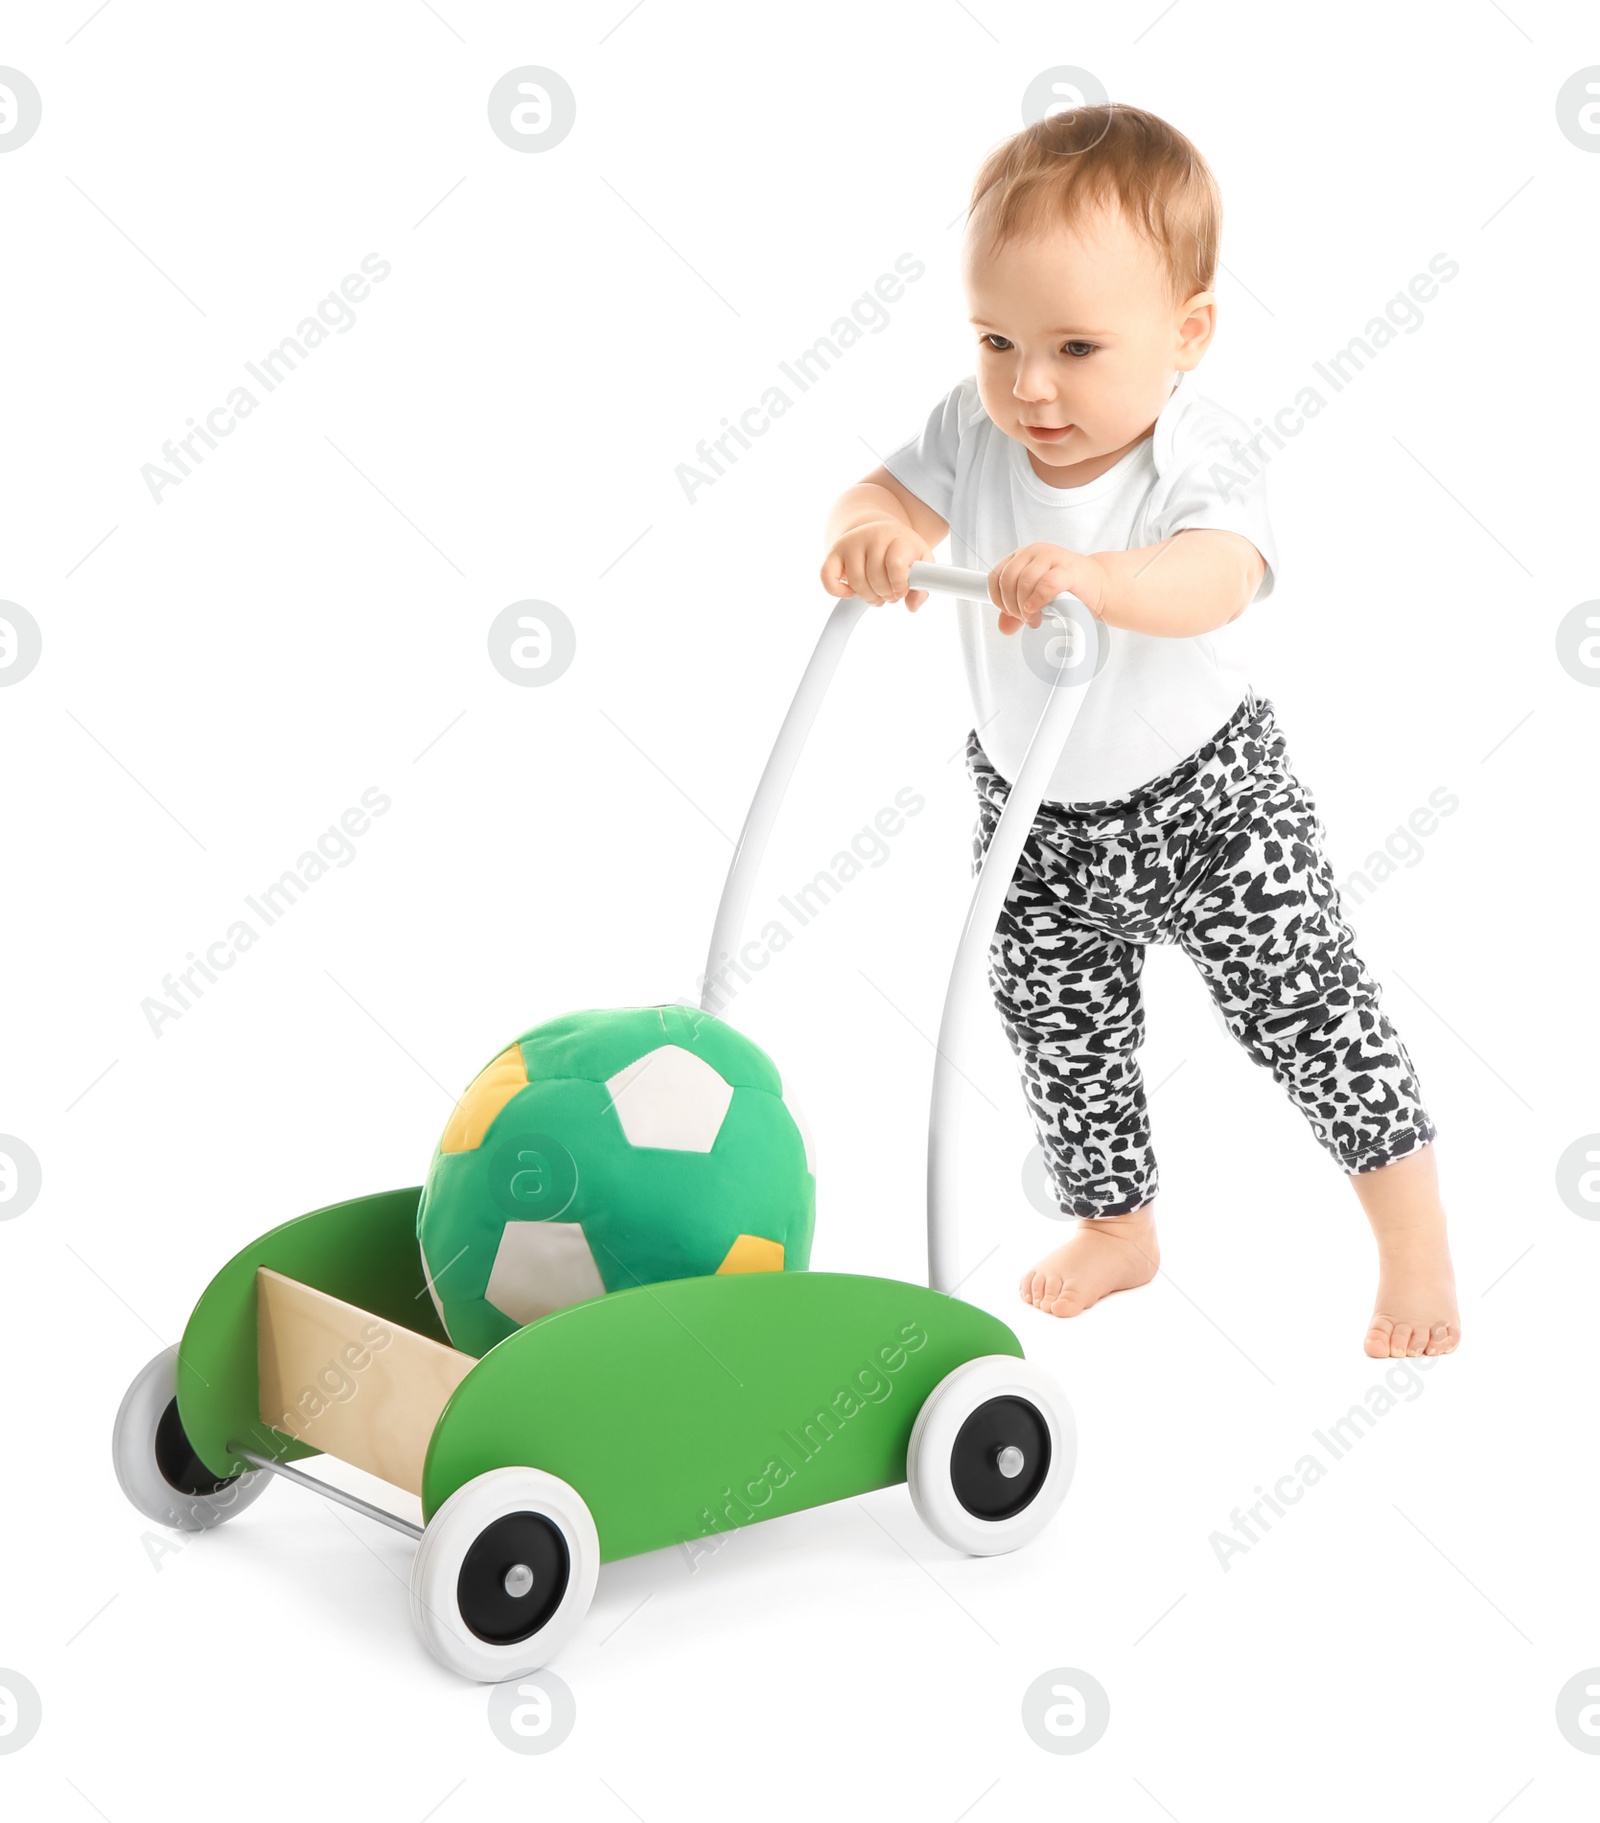
[[[1454,1354],[1462,1340],[1432,1154],[1427,1145],[1352,1179],[1378,1240],[1378,1302],[1363,1344],[1374,1360]]]

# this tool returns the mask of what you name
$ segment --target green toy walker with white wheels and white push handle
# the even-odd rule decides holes
[[[913,563],[911,587],[988,602],[980,571]],[[836,602],[745,819],[707,961],[736,953],[805,736],[867,603]],[[499,1681],[572,1637],[601,1562],[904,1480],[946,1544],[1011,1551],[1072,1480],[1072,1411],[995,1316],[955,1291],[957,1083],[1006,890],[1093,675],[1099,625],[1050,607],[1066,653],[984,857],[944,1003],[928,1134],[928,1285],[736,1271],[589,1296],[481,1356],[456,1349],[417,1249],[421,1189],[313,1210],[206,1287],[177,1347],[135,1378],[113,1460],[133,1506],[204,1531],[272,1478],[417,1540],[428,1652]],[[559,1396],[552,1396],[559,1391]],[[292,1464],[326,1453],[421,1499],[425,1524]]]

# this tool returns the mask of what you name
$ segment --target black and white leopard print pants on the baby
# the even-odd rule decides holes
[[[1008,784],[977,733],[977,868]],[[1234,1037],[1345,1172],[1434,1138],[1378,1001],[1272,704],[1246,698],[1170,773],[1103,804],[1044,804],[990,946],[990,986],[1064,1214],[1117,1216],[1159,1187],[1139,1072],[1144,948],[1179,942]]]

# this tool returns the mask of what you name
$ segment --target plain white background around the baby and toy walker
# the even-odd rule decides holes
[[[1554,644],[1600,592],[1600,157],[1554,115],[1600,62],[1593,18],[87,15],[13,4],[0,36],[44,97],[0,157],[0,596],[44,631],[0,691],[0,1128],[44,1167],[0,1223],[0,1664],[44,1701],[0,1756],[7,1814],[279,1816],[306,1783],[313,1814],[399,1823],[1593,1814],[1600,1757],[1554,1723],[1600,1663],[1600,1227],[1554,1176],[1600,1128],[1600,693]],[[485,111],[521,64],[578,97],[532,157]],[[450,1096],[512,1034],[694,992],[826,609],[827,505],[969,370],[968,188],[1059,64],[1212,162],[1226,270],[1197,383],[1246,419],[1434,253],[1460,263],[1274,456],[1281,582],[1241,625],[1341,877],[1436,788],[1460,798],[1350,915],[1440,1127],[1465,1344],[1223,1571],[1210,1533],[1383,1376],[1359,1353],[1365,1221],[1157,953],[1164,1271],[1079,1322],[1022,1309],[1017,1278],[1062,1229],[1024,1200],[1031,1134],[990,1025],[964,1059],[962,1258],[982,1263],[962,1294],[1073,1402],[1059,1519],[968,1560],[891,1488],[753,1528],[696,1573],[678,1551],[610,1566],[558,1664],[576,1730],[518,1757],[487,1690],[412,1637],[405,1539],[290,1488],[160,1539],[117,1489],[111,1416],[235,1249],[419,1181]],[[370,252],[392,275],[355,326],[153,503],[140,467]],[[696,443],[906,252],[928,270],[889,324],[685,500]],[[578,631],[549,687],[487,658],[523,598]],[[898,788],[926,797],[733,1010],[818,1136],[816,1267],[924,1271],[966,727],[948,613],[869,616],[758,891],[769,908],[827,866]],[[355,859],[155,1037],[144,997],[368,786],[392,809]],[[1079,1756],[1021,1725],[1057,1666],[1110,1694]]]

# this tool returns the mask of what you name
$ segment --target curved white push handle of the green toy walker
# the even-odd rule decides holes
[[[955,569],[948,563],[913,563],[909,587],[928,589],[931,594],[959,594],[968,602],[990,600],[990,578],[986,571]],[[756,873],[767,851],[773,824],[784,804],[784,793],[800,762],[805,736],[833,682],[833,673],[844,656],[855,625],[866,611],[866,602],[858,596],[846,596],[835,603],[816,651],[805,665],[784,726],[773,744],[771,758],[762,773],[756,795],[751,798],[738,846],[727,870],[722,899],[716,906],[716,924],[711,932],[711,952],[705,959],[705,979],[702,983],[700,1004],[705,1012],[716,1012],[725,1001],[720,975],[736,961],[738,941],[744,933],[751,895],[754,893]],[[1006,902],[1011,875],[1022,855],[1022,844],[1039,815],[1044,789],[1055,771],[1072,724],[1082,702],[1088,680],[1097,669],[1099,622],[1072,594],[1057,596],[1046,614],[1062,622],[1077,623],[1081,638],[1075,642],[1075,656],[1061,667],[1055,687],[1044,704],[1033,738],[1022,757],[1022,767],[1006,798],[1006,808],[990,839],[984,864],[979,870],[973,888],[971,906],[962,926],[960,942],[955,952],[955,966],[949,972],[949,988],[944,995],[944,1015],[938,1023],[938,1048],[933,1059],[933,1107],[928,1121],[928,1283],[935,1291],[953,1293],[957,1278],[957,1068],[951,1061],[955,1054],[969,1048],[975,1008],[980,1001],[984,973],[990,955],[990,939]]]

